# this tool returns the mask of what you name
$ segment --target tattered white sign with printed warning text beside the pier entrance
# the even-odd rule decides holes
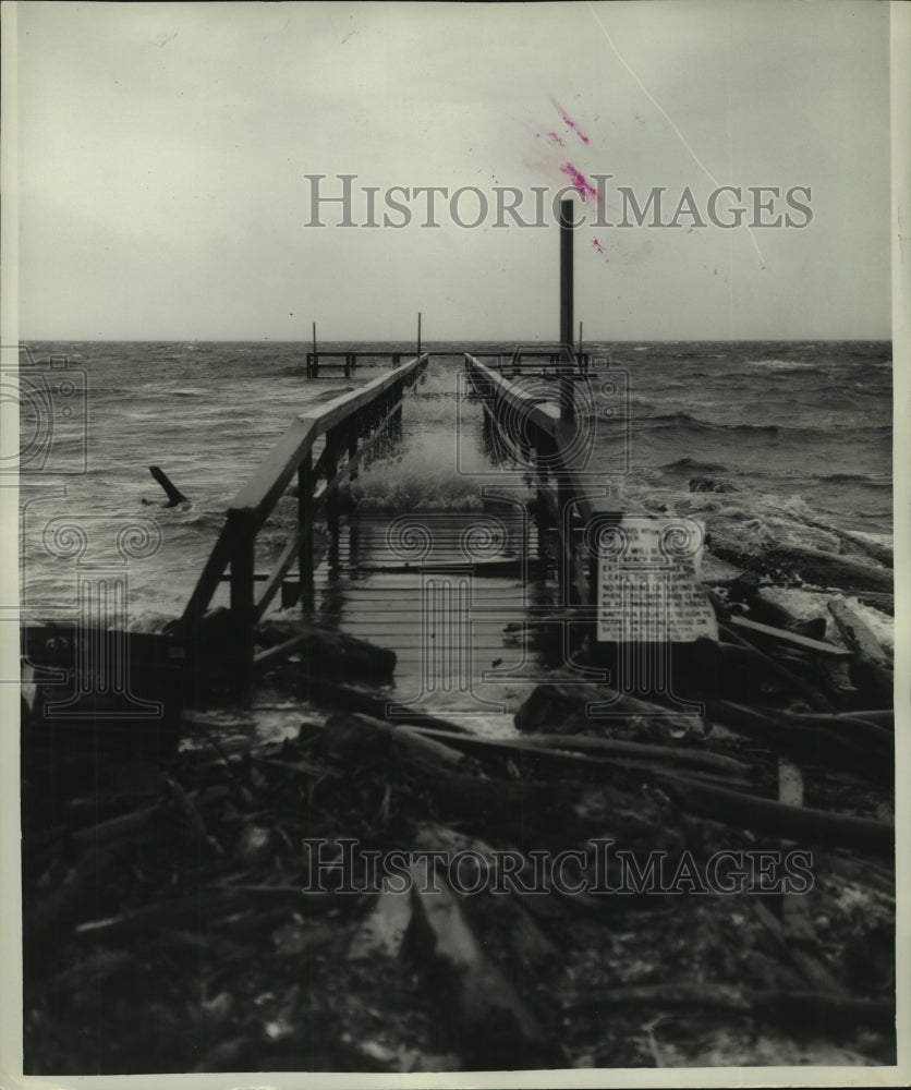
[[[629,516],[602,528],[597,639],[717,640],[715,610],[699,582],[704,541],[705,528],[693,519]]]

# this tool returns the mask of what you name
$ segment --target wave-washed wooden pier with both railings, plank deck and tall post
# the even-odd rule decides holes
[[[224,528],[180,621],[191,657],[198,657],[201,649],[210,642],[212,627],[206,628],[206,622],[211,619],[212,598],[222,580],[228,579],[230,605],[227,628],[222,623],[220,634],[224,654],[231,659],[236,691],[248,691],[257,666],[256,625],[279,594],[282,602],[289,598],[288,576],[296,569],[296,597],[305,610],[315,613],[326,607],[331,611],[333,595],[338,600],[336,592],[347,584],[351,595],[347,620],[351,625],[356,618],[353,623],[363,634],[379,634],[385,637],[380,642],[388,642],[389,631],[380,629],[378,633],[367,633],[365,629],[372,623],[388,628],[390,618],[398,618],[394,631],[401,638],[408,632],[412,645],[403,643],[394,650],[401,656],[404,671],[417,682],[415,699],[440,691],[471,693],[474,699],[477,687],[486,683],[485,670],[478,664],[489,658],[490,667],[486,671],[489,675],[503,662],[505,656],[500,653],[505,650],[503,619],[522,626],[522,609],[529,605],[533,538],[551,530],[556,531],[558,542],[555,558],[559,586],[557,604],[574,606],[583,614],[587,610],[583,619],[590,627],[594,626],[591,607],[594,606],[593,571],[597,557],[591,547],[590,531],[595,528],[599,532],[603,523],[615,523],[619,516],[604,489],[593,488],[584,474],[591,449],[585,448],[584,417],[575,419],[574,405],[576,386],[590,383],[590,359],[582,351],[581,330],[579,353],[570,346],[572,233],[569,204],[564,202],[562,206],[560,235],[559,347],[556,350],[518,349],[509,361],[498,361],[498,366],[464,355],[471,390],[482,402],[488,426],[505,439],[508,457],[514,459],[520,475],[527,476],[531,472],[537,479],[534,524],[527,506],[517,500],[515,504],[507,501],[507,507],[514,509],[505,516],[505,521],[478,514],[475,510],[459,513],[448,510],[441,518],[439,512],[429,511],[391,512],[382,540],[376,533],[376,525],[360,518],[349,521],[347,533],[342,535],[340,486],[354,477],[361,458],[380,439],[388,441],[391,437],[394,440],[401,434],[403,402],[426,372],[427,355],[421,353],[418,314],[417,355],[413,360],[402,364],[393,356],[388,373],[299,415],[234,496]],[[306,355],[308,378],[318,376],[320,360],[323,365],[338,361],[348,377],[356,366],[357,356],[357,352],[349,349],[319,353],[314,325],[313,351]],[[549,391],[545,397],[527,391],[523,384],[529,377],[530,365],[549,383],[552,398]],[[465,400],[471,396],[466,386]],[[580,436],[583,449],[580,449]],[[458,475],[458,437],[440,435],[439,438],[442,444],[452,443],[452,474]],[[257,573],[257,535],[294,482],[297,495],[294,531],[271,571]],[[478,481],[478,495],[482,494]],[[327,573],[325,578],[320,574],[321,604],[315,595],[314,528],[317,519],[325,520],[329,535]],[[581,542],[580,530],[587,535]],[[369,540],[369,546],[363,544],[364,538]],[[427,547],[422,554],[420,549],[425,541]],[[414,553],[411,558],[410,548]],[[506,550],[502,557],[498,549]],[[537,548],[536,552],[535,560],[539,562],[543,550]],[[497,588],[487,578],[496,574],[490,561],[498,557],[512,568],[510,578],[514,583],[509,593],[506,586]],[[478,565],[484,567],[479,569]],[[482,578],[487,578],[483,595],[474,585],[481,570],[484,571]],[[367,572],[371,578],[365,581],[362,577]],[[384,583],[388,576],[398,578],[400,583],[388,580]],[[408,581],[402,583],[405,578]],[[376,621],[366,618],[376,618]],[[593,628],[590,634],[590,642],[593,642]],[[423,656],[421,663],[415,658],[418,652]]]

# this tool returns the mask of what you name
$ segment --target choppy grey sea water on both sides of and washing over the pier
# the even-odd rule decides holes
[[[363,505],[481,504],[472,471],[488,462],[481,409],[460,396],[460,353],[513,347],[427,347],[435,354],[408,403],[401,447],[356,482]],[[697,514],[746,547],[772,540],[826,547],[825,528],[890,541],[888,343],[586,350],[610,359],[610,380],[595,383],[590,407],[593,465],[630,509]],[[232,495],[292,416],[327,391],[378,373],[365,366],[352,379],[307,379],[305,351],[269,342],[29,344],[23,359],[34,363],[24,367],[21,413],[26,617],[74,616],[77,567],[122,566],[124,558],[129,623],[155,627],[179,615]],[[165,497],[149,476],[153,463],[189,505],[159,506]],[[691,492],[696,476],[732,491]],[[265,553],[281,548],[292,518],[293,504],[284,501],[263,535]]]

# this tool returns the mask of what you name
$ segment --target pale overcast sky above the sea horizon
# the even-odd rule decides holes
[[[745,221],[778,186],[782,221],[580,227],[586,338],[889,336],[885,3],[29,2],[19,84],[23,339],[411,337],[418,311],[428,339],[556,338],[549,208],[497,228],[496,187],[534,220],[533,186],[594,174],[590,220],[623,185],[664,187],[664,221],[689,187],[707,220],[733,185]],[[307,226],[317,173],[357,175],[359,223],[378,187],[380,226]],[[382,226],[392,185],[489,214],[425,227],[410,197]]]

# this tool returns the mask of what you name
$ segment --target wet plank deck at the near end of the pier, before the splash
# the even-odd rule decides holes
[[[556,594],[536,552],[518,508],[354,511],[316,571],[315,614],[394,651],[397,717],[511,716],[505,691],[539,678],[525,638]]]

